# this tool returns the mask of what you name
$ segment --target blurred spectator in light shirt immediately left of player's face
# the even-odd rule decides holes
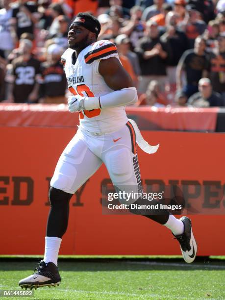
[[[54,44],[59,45],[64,50],[68,48],[68,30],[69,30],[69,20],[66,16],[60,15],[55,18],[59,24],[59,29],[55,34],[49,35],[48,39],[53,40]]]

